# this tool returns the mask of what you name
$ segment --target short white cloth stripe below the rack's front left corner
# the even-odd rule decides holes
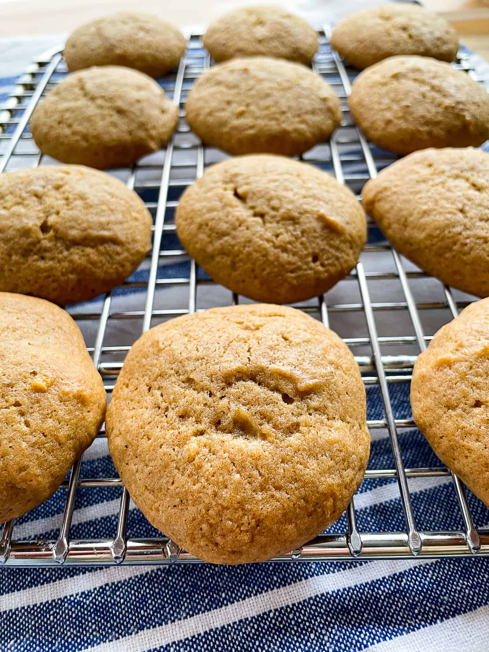
[[[162,566],[168,569],[168,566]],[[59,600],[67,595],[76,595],[83,591],[93,591],[104,584],[113,582],[124,582],[131,577],[143,575],[144,573],[155,572],[156,566],[125,566],[100,569],[99,571],[85,572],[75,577],[67,577],[62,580],[55,580],[49,584],[22,589],[0,596],[0,611],[33,606],[41,602]],[[76,589],[76,590],[74,590]]]

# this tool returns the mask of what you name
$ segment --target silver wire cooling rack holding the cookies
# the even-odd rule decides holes
[[[313,68],[340,97],[343,119],[331,141],[314,147],[303,160],[333,173],[359,197],[364,183],[395,157],[367,143],[353,123],[347,98],[357,71],[346,67],[338,54],[331,51],[327,35],[326,28],[319,31],[320,48]],[[477,79],[469,55],[459,53],[454,65]],[[132,169],[112,172],[140,194],[153,215],[153,248],[149,256],[140,270],[120,288],[90,303],[68,308],[82,329],[109,394],[127,351],[143,331],[177,315],[247,301],[218,286],[198,269],[181,248],[173,222],[181,192],[206,166],[225,157],[220,151],[203,146],[185,121],[188,90],[207,67],[209,55],[202,48],[201,35],[194,34],[178,70],[160,80],[167,95],[173,97],[180,108],[177,132],[164,151],[145,156]],[[7,103],[0,106],[0,172],[52,163],[48,156],[38,152],[28,122],[40,97],[66,74],[61,53],[50,53],[27,70]],[[460,480],[445,467],[436,466],[436,462],[432,466],[404,466],[402,433],[415,432],[415,424],[410,414],[404,418],[394,417],[391,404],[391,393],[396,387],[406,387],[409,383],[419,351],[424,351],[432,334],[443,323],[471,303],[471,297],[443,287],[402,259],[383,239],[374,223],[369,222],[368,228],[368,244],[355,271],[326,295],[295,307],[331,325],[344,338],[360,365],[368,389],[369,408],[377,401],[376,410],[383,412],[382,418],[370,418],[368,426],[372,439],[384,436],[390,441],[391,462],[377,467],[369,463],[364,482],[391,482],[389,487],[396,491],[394,505],[398,505],[400,513],[397,516],[402,526],[398,531],[376,531],[374,527],[359,526],[353,500],[346,518],[343,516],[329,531],[280,560],[489,554],[489,528],[484,523],[479,529],[475,527],[469,503],[474,505],[477,499],[470,494],[467,501]],[[93,447],[106,447],[104,437],[102,430]],[[36,523],[29,520],[32,512],[17,524],[5,524],[0,537],[0,562],[12,566],[46,566],[58,563],[155,564],[177,559],[200,561],[156,530],[151,536],[133,537],[128,532],[128,518],[134,509],[128,492],[117,477],[96,477],[96,471],[83,472],[84,465],[89,466],[86,460],[90,451],[74,465],[55,496],[37,508],[44,509],[44,514],[48,509],[45,506],[53,501],[61,505],[55,534],[45,539],[29,536],[29,524]],[[433,456],[430,459],[433,460]],[[419,515],[413,509],[413,483],[423,479],[444,480],[445,492],[449,491],[447,483],[451,482],[456,496],[454,511],[459,511],[460,527],[447,527],[441,522],[437,529],[419,528]],[[98,529],[94,530],[93,538],[70,536],[78,498],[82,492],[95,490],[118,492],[117,507],[110,521],[112,531],[99,538],[96,538]],[[89,512],[91,502],[86,499],[86,493],[82,505],[85,505],[82,510]],[[56,511],[55,507],[53,509]],[[375,512],[375,506],[372,509]],[[487,512],[483,513],[487,516]],[[479,520],[484,520],[480,512],[478,516]],[[27,522],[23,522],[26,518]],[[143,519],[141,514],[140,518]],[[488,522],[486,518],[485,524]]]

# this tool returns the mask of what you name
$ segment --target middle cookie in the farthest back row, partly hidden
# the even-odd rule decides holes
[[[213,22],[203,39],[211,57],[277,57],[310,65],[318,35],[308,22],[274,5],[241,7]]]

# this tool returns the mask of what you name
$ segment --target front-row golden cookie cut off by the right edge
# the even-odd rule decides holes
[[[489,299],[443,326],[418,357],[411,408],[440,460],[489,507]]]

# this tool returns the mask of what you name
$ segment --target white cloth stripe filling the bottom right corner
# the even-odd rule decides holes
[[[488,648],[489,606],[369,647],[372,652],[478,652]]]

